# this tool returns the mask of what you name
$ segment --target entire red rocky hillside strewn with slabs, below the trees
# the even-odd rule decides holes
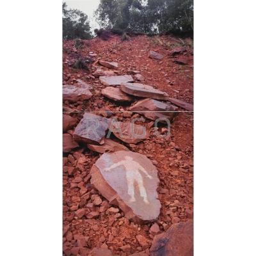
[[[63,42],[63,255],[192,255],[192,44]]]

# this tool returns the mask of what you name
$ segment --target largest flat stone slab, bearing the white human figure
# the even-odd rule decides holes
[[[93,186],[118,205],[126,218],[143,223],[159,216],[157,169],[146,156],[131,151],[105,153],[93,165],[91,175]]]

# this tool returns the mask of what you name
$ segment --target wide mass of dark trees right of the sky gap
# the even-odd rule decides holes
[[[102,28],[193,35],[193,0],[100,0]]]

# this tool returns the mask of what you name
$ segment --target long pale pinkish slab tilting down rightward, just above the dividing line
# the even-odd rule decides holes
[[[120,89],[122,92],[130,95],[152,98],[158,100],[168,100],[169,96],[166,92],[155,89],[154,87],[147,84],[140,83],[121,83]]]

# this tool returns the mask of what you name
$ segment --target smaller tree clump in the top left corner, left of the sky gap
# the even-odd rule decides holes
[[[64,39],[90,39],[92,33],[88,16],[76,9],[67,9],[67,4],[62,4],[63,38]]]

